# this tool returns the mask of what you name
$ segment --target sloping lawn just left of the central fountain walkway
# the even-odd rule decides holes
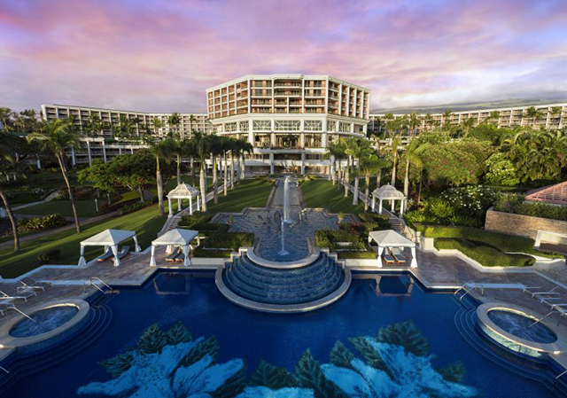
[[[269,193],[274,185],[263,179],[242,180],[240,184],[234,185],[234,191],[228,191],[225,197],[219,191],[219,203],[213,200],[207,203],[207,213],[240,212],[245,207],[265,207],[268,202]]]

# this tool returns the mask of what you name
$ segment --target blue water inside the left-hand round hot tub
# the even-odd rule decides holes
[[[10,330],[12,337],[31,337],[57,329],[79,312],[75,306],[57,306],[41,309],[30,317],[35,321],[24,318]]]

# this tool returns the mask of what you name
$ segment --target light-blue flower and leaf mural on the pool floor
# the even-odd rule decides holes
[[[413,322],[381,328],[376,337],[349,339],[360,356],[337,341],[330,363],[307,351],[293,372],[260,362],[249,378],[243,359],[217,363],[214,337],[192,339],[181,323],[164,332],[148,328],[136,347],[101,363],[113,379],[93,382],[78,394],[130,398],[370,398],[470,397],[462,363],[435,368],[429,342]]]

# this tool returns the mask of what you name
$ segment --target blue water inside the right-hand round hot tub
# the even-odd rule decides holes
[[[488,317],[502,330],[513,334],[520,339],[533,341],[534,343],[553,343],[557,336],[545,324],[534,324],[534,320],[515,312],[501,309],[493,309],[488,312]]]

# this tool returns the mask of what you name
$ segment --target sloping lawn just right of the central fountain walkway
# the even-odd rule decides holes
[[[345,198],[345,189],[338,191],[337,185],[327,180],[311,180],[301,184],[303,199],[307,207],[327,207],[330,213],[353,213],[364,211],[364,204],[353,206],[353,194]]]

